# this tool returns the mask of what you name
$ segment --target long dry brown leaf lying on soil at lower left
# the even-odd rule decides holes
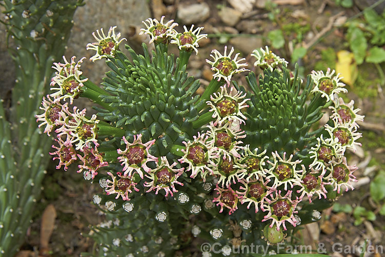
[[[40,227],[40,251],[48,250],[49,238],[51,237],[56,219],[56,210],[53,205],[48,205],[43,212],[42,225]]]

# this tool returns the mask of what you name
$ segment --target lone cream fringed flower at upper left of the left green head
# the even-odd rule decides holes
[[[92,33],[93,37],[97,42],[88,43],[87,50],[95,50],[96,53],[89,60],[94,62],[101,60],[102,58],[108,58],[108,56],[114,57],[116,51],[119,49],[119,44],[122,43],[125,38],[120,39],[121,34],[115,34],[115,28],[117,26],[110,27],[107,35],[104,34],[103,28],[97,30],[98,36],[95,32]]]

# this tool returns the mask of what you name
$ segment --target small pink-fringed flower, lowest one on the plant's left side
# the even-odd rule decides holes
[[[129,201],[129,193],[132,193],[132,189],[139,192],[139,189],[136,188],[137,183],[133,182],[129,177],[125,177],[122,173],[117,172],[118,178],[114,176],[111,172],[107,172],[111,176],[111,179],[107,179],[106,193],[117,194],[115,199],[118,199],[119,196],[122,196],[124,201]]]

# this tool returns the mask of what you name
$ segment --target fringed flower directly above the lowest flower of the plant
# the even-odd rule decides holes
[[[287,190],[287,184],[294,187],[294,185],[300,185],[301,175],[305,172],[305,167],[302,165],[301,170],[296,170],[297,164],[299,164],[302,160],[292,161],[293,155],[286,160],[286,152],[283,153],[283,158],[276,151],[272,153],[274,162],[267,161],[272,165],[272,168],[265,169],[267,173],[267,178],[274,181],[272,185],[272,189],[275,189],[281,185],[284,185],[284,190]]]

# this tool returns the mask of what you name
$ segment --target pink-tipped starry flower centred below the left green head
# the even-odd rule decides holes
[[[177,179],[182,175],[184,168],[174,168],[178,163],[174,162],[171,165],[168,163],[167,157],[162,156],[160,161],[157,162],[157,168],[151,170],[145,176],[150,179],[144,183],[145,187],[149,187],[146,192],[156,190],[155,194],[158,194],[159,190],[164,189],[166,197],[168,194],[172,196],[173,192],[178,192],[175,188],[175,184],[183,186],[182,182]]]

